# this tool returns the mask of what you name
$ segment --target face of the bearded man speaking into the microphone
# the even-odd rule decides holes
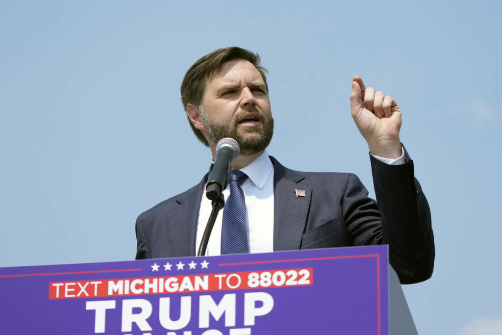
[[[256,67],[246,60],[223,65],[207,81],[202,106],[199,106],[209,143],[233,138],[240,153],[259,153],[270,143],[274,119],[267,87]]]

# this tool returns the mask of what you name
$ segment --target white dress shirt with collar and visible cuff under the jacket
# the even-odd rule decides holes
[[[407,162],[403,154],[398,159],[374,158],[390,165],[400,165]],[[270,161],[267,150],[249,165],[240,169],[248,178],[240,185],[246,203],[246,225],[249,250],[254,253],[268,253],[274,251],[274,165]],[[226,199],[230,194],[230,186],[223,190]],[[224,208],[224,207],[223,207]],[[197,254],[202,235],[211,214],[211,201],[206,198],[206,191],[202,194],[199,219],[197,225]],[[220,210],[213,231],[207,244],[206,256],[218,256],[221,252],[221,221],[223,210]]]

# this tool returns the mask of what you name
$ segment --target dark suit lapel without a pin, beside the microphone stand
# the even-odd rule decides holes
[[[197,239],[197,225],[199,220],[200,201],[204,192],[207,174],[202,178],[199,184],[188,191],[180,194],[176,198],[178,206],[178,215],[174,222],[178,227],[176,240],[172,242],[172,252],[181,256],[195,256],[195,243]]]

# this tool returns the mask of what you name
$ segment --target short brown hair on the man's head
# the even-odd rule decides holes
[[[255,65],[257,70],[262,75],[268,91],[269,87],[267,85],[267,77],[265,75],[267,69],[260,65],[260,56],[258,54],[239,47],[222,48],[214,50],[213,52],[201,57],[193,63],[193,65],[185,73],[185,77],[181,83],[181,102],[183,102],[185,111],[188,103],[197,107],[202,105],[202,98],[204,96],[204,90],[206,89],[207,79],[213,73],[219,71],[225,63],[236,59],[247,60]],[[199,141],[206,147],[209,147],[209,143],[207,143],[200,130],[194,127],[190,118],[188,118],[188,122],[190,123],[190,127],[192,127],[192,130]]]

